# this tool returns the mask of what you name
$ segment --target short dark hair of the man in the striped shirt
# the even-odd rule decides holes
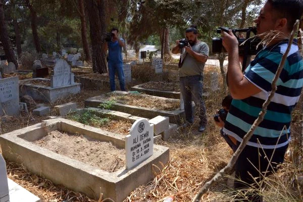
[[[302,0],[267,0],[276,11],[278,18],[287,19],[287,29],[292,30],[296,20],[300,20],[303,13]]]

